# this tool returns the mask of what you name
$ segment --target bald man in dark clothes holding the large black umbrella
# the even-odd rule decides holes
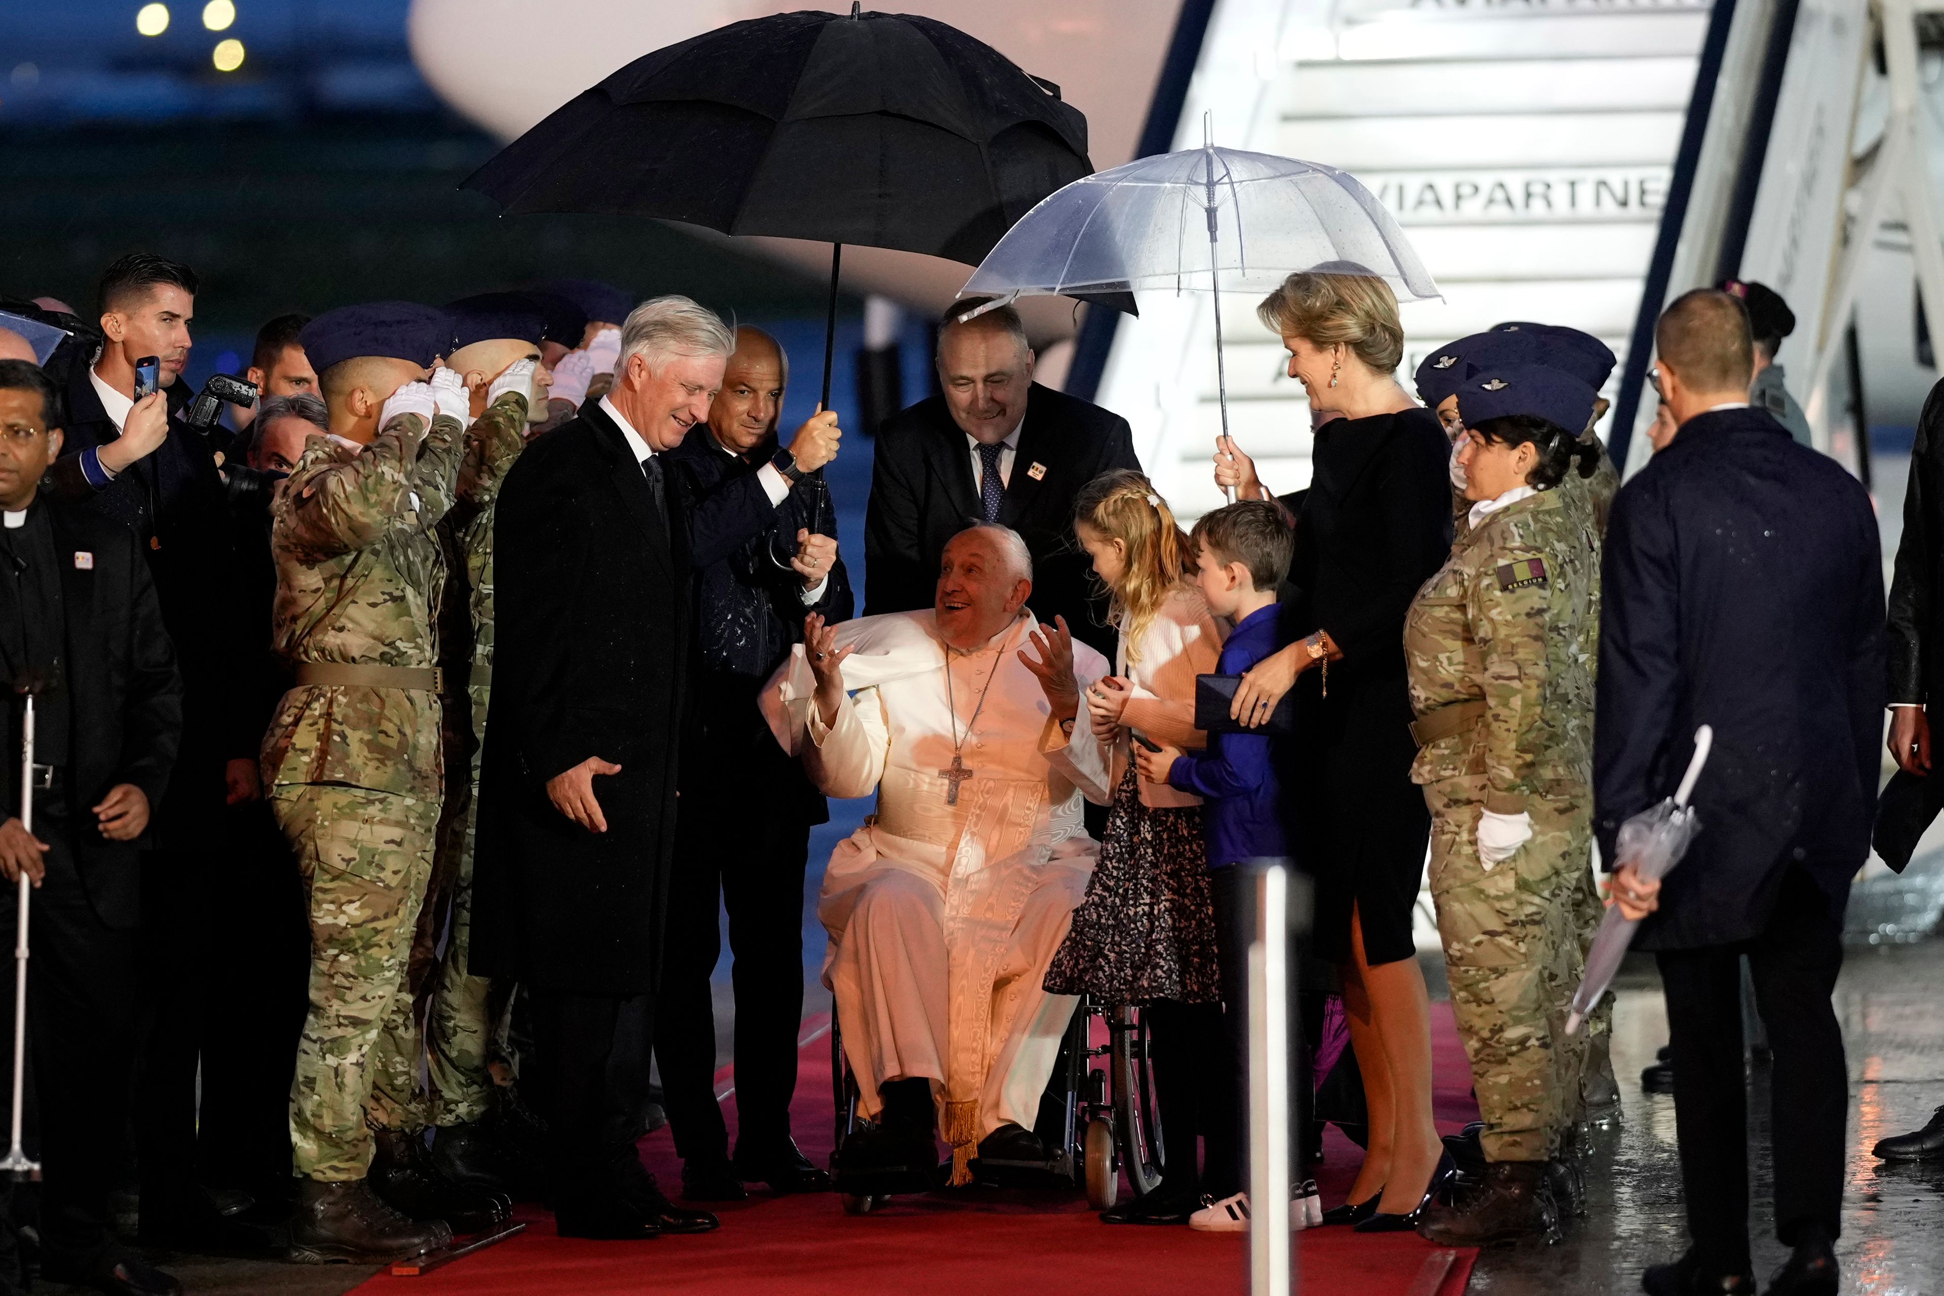
[[[696,497],[758,472],[776,453],[787,358],[760,328],[737,328],[735,342],[708,426],[669,451]],[[811,826],[828,822],[830,810],[803,762],[770,734],[756,694],[803,637],[805,616],[851,616],[830,501],[791,492],[762,534],[696,567],[696,606],[698,661],[688,682],[677,870],[655,1024],[663,1106],[682,1156],[682,1197],[741,1201],[745,1181],[780,1193],[822,1191],[830,1174],[797,1150],[789,1100],[803,1024],[803,880]],[[733,1162],[715,1100],[710,973],[721,956],[719,909],[729,913],[735,958]]]

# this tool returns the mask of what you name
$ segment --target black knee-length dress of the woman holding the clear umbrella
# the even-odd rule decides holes
[[[1415,956],[1411,905],[1431,812],[1411,783],[1404,614],[1452,548],[1450,443],[1421,408],[1334,420],[1316,431],[1312,478],[1283,587],[1281,639],[1324,630],[1343,649],[1297,680],[1301,734],[1277,744],[1287,836],[1316,882],[1316,948],[1349,958],[1359,905],[1372,964]]]

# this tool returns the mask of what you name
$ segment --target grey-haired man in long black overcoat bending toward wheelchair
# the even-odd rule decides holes
[[[715,1228],[655,1187],[607,1074],[622,1014],[659,989],[690,573],[768,529],[836,439],[828,418],[818,459],[780,451],[686,499],[663,455],[708,418],[733,346],[686,297],[636,307],[612,391],[537,437],[500,494],[470,970],[529,989],[564,1236]]]

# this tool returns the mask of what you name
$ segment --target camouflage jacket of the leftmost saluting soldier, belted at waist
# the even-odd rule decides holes
[[[435,666],[445,583],[435,527],[453,507],[463,433],[399,414],[362,451],[311,437],[270,503],[272,645],[290,666]],[[299,684],[262,744],[264,783],[344,783],[441,797],[439,698]]]

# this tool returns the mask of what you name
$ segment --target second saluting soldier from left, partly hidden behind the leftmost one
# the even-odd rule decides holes
[[[500,484],[525,449],[527,412],[546,408],[552,375],[540,361],[544,319],[521,293],[455,301],[451,367],[467,375],[478,416],[467,433],[459,494],[439,523],[447,550],[463,567],[451,571],[447,598],[465,600],[470,616],[467,699],[469,767],[453,779],[441,867],[451,869],[451,911],[443,917],[445,950],[426,1010],[426,1069],[432,1086],[434,1162],[447,1177],[482,1189],[503,1183],[482,1121],[494,1106],[488,1069],[494,1030],[494,985],[467,972],[472,948],[472,843],[478,822],[480,748],[492,698],[492,536]],[[461,729],[467,729],[461,725]]]

